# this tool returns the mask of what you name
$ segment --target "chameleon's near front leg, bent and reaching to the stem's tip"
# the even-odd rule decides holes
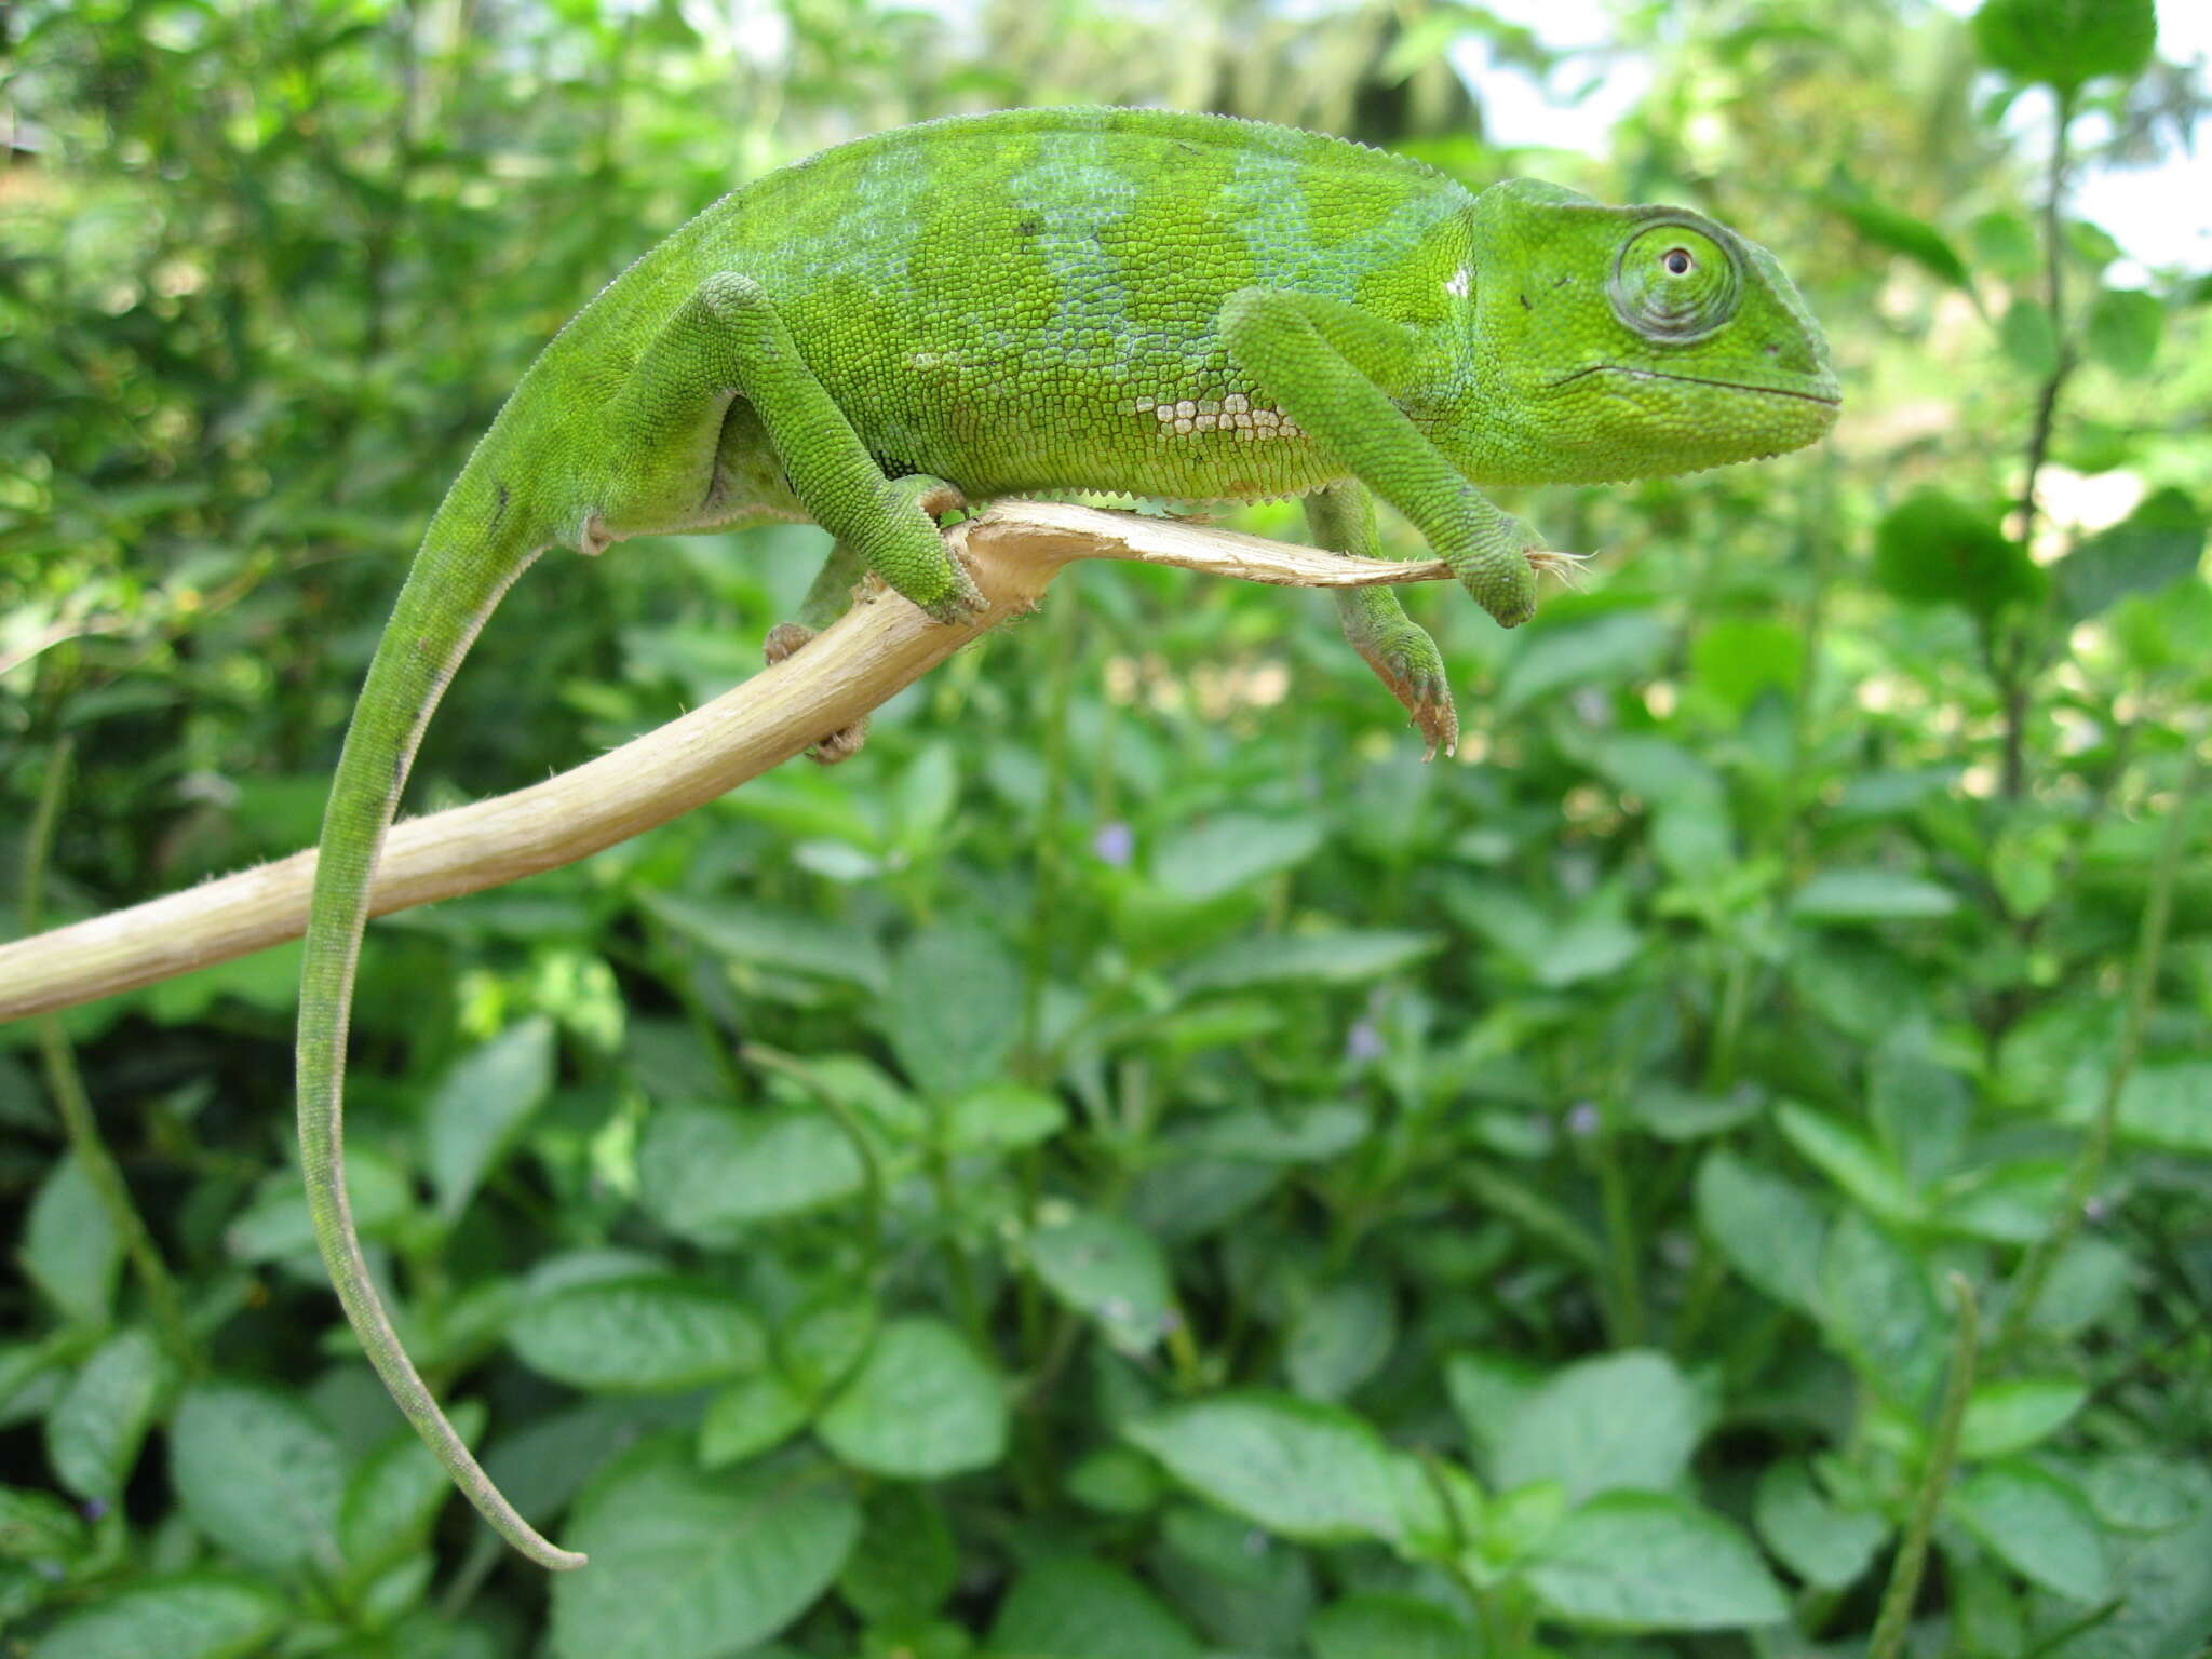
[[[1221,305],[1230,356],[1345,469],[1427,538],[1506,628],[1535,613],[1528,555],[1544,542],[1493,507],[1383,387],[1420,336],[1312,294],[1241,288]]]

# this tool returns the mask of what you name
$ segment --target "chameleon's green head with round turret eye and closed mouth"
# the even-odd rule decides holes
[[[1836,425],[1827,338],[1765,248],[1688,208],[1537,179],[1491,186],[1473,212],[1475,246],[1511,250],[1473,279],[1475,376],[1522,427],[1495,456],[1473,440],[1486,482],[1765,460]]]

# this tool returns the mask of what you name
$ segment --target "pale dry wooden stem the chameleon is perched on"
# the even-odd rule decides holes
[[[889,701],[960,646],[1033,611],[1075,560],[1137,560],[1279,586],[1438,582],[1436,560],[1383,564],[1186,522],[1057,502],[1004,502],[949,531],[989,611],[942,628],[883,595],[712,703],[544,783],[398,825],[369,914],[535,876],[734,790]],[[619,557],[619,555],[617,555]],[[299,938],[314,852],[0,945],[0,1022],[133,991]]]

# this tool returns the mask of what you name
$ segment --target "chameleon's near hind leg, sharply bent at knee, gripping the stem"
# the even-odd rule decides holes
[[[708,276],[646,347],[615,396],[608,533],[681,522],[714,484],[732,398],[759,414],[807,515],[938,622],[982,608],[922,507],[938,480],[889,480],[845,411],[805,365],[774,303],[750,276]]]

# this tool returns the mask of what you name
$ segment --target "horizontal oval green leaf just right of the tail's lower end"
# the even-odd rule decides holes
[[[672,1394],[768,1360],[761,1323],[730,1292],[675,1274],[546,1292],[513,1316],[507,1340],[540,1376],[595,1394]]]

